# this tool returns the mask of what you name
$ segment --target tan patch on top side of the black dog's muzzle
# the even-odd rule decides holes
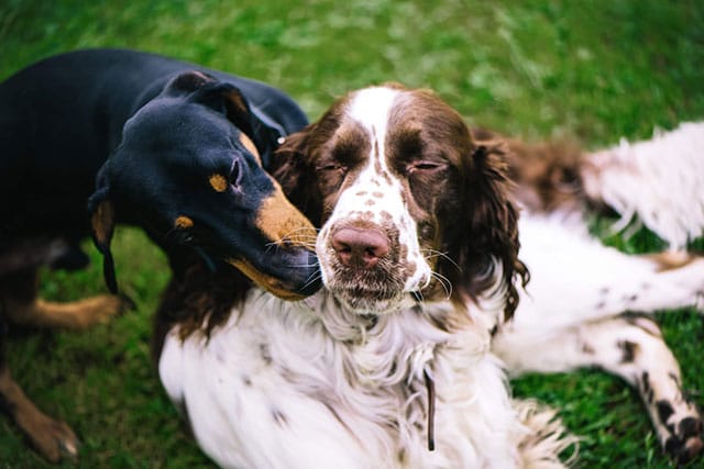
[[[276,183],[274,194],[264,201],[256,216],[256,227],[277,245],[311,247],[316,228],[284,196]]]

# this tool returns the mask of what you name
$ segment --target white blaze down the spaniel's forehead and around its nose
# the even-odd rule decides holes
[[[369,135],[370,154],[354,182],[340,194],[320,234],[321,238],[328,238],[330,227],[341,220],[364,219],[380,226],[393,223],[398,228],[399,244],[407,247],[405,263],[416,266],[405,282],[406,291],[415,291],[430,280],[431,269],[420,254],[417,225],[403,198],[404,187],[389,171],[385,156],[388,118],[400,92],[391,88],[369,88],[359,91],[349,103],[348,115]],[[322,270],[324,281],[328,277],[324,266]]]

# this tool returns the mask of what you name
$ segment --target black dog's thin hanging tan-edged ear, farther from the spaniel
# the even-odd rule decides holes
[[[114,208],[109,199],[110,189],[103,175],[105,169],[103,166],[98,174],[98,189],[88,199],[88,213],[92,241],[102,254],[102,275],[108,289],[117,294],[118,281],[114,276],[114,260],[110,252],[110,242],[114,232]]]

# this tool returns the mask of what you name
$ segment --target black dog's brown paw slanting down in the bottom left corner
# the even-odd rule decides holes
[[[78,438],[74,432],[64,422],[42,413],[14,382],[7,367],[0,367],[0,395],[14,422],[46,459],[57,462],[62,454],[70,457],[78,454]]]

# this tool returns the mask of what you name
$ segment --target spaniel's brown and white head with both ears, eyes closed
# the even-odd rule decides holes
[[[322,280],[348,308],[501,297],[506,317],[515,310],[514,279],[527,273],[502,152],[475,145],[432,92],[352,92],[289,136],[273,166],[321,226]]]

